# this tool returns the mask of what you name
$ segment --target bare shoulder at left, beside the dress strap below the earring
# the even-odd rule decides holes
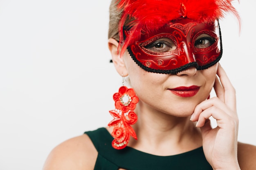
[[[43,170],[93,170],[97,150],[83,134],[56,146],[45,161]]]

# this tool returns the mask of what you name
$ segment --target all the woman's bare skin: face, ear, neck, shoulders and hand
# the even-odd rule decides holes
[[[109,39],[108,46],[117,72],[129,75],[130,85],[139,97],[135,109],[138,121],[133,126],[138,139],[131,138],[129,146],[161,156],[203,146],[214,170],[256,169],[256,146],[237,141],[235,89],[220,64],[199,71],[189,68],[176,75],[156,74],[141,69],[127,53],[120,58],[115,39]],[[198,94],[191,98],[178,97],[168,90],[189,85],[200,86]],[[216,97],[207,100],[212,87]],[[211,116],[218,124],[214,129],[210,126]],[[111,133],[112,129],[107,129]],[[43,170],[93,170],[96,159],[97,150],[90,138],[81,135],[56,146]]]

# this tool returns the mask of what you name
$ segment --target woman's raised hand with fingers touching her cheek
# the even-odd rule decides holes
[[[236,91],[220,65],[217,75],[213,86],[217,97],[197,105],[191,121],[198,121],[196,126],[201,128],[204,155],[213,169],[240,170],[237,159]],[[214,129],[209,120],[211,116],[218,125]]]

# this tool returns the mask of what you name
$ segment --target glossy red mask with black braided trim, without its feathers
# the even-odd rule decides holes
[[[129,31],[126,31],[129,36]],[[128,47],[132,59],[148,72],[175,74],[195,66],[203,70],[222,54],[218,22],[209,24],[182,18],[156,31],[142,33]]]

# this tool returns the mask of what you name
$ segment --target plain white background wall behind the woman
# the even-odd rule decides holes
[[[121,77],[109,63],[110,0],[0,0],[0,170],[38,170],[59,143],[106,126]],[[254,0],[220,21],[239,141],[255,139]]]

